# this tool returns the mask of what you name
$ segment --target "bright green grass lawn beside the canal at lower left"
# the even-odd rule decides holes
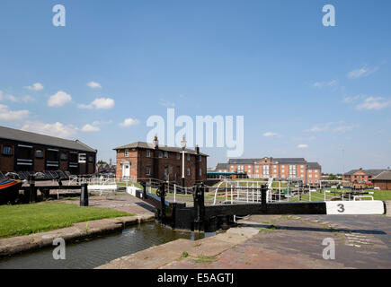
[[[72,226],[102,218],[131,216],[108,208],[40,203],[0,206],[0,239]]]

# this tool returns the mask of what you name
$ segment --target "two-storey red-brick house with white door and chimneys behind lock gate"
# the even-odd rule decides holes
[[[148,178],[182,183],[182,148],[153,143],[129,143],[114,149],[117,152],[117,178],[146,181]],[[207,154],[185,150],[185,186],[207,179]]]

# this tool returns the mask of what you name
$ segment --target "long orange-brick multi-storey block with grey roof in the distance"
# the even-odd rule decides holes
[[[227,165],[219,163],[219,172],[246,173],[249,178],[301,178],[305,183],[318,183],[322,167],[304,158],[231,159]]]

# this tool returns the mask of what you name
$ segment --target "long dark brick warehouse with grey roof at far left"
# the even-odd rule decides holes
[[[76,140],[0,126],[0,171],[63,170],[93,174],[96,150]]]

